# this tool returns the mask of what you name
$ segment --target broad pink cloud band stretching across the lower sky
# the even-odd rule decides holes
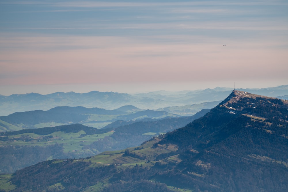
[[[288,71],[287,50],[270,48],[279,45],[272,41],[223,46],[215,39],[153,43],[121,37],[19,37],[1,42],[10,47],[0,53],[2,85],[249,80],[285,78]]]

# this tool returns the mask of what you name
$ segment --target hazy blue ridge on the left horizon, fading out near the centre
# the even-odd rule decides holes
[[[58,106],[101,107],[105,109],[109,106],[110,108],[108,109],[113,109],[115,106],[122,107],[128,105],[134,100],[134,97],[129,94],[98,91],[89,93],[56,92],[47,95],[36,93],[13,94],[10,96],[1,96],[0,115],[9,115],[14,112],[33,111],[37,109],[46,111]]]

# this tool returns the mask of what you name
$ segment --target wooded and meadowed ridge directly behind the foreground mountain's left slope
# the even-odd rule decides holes
[[[152,136],[183,127],[209,111],[202,110],[191,117],[128,121],[127,125],[114,123],[113,127],[103,129],[72,124],[2,132],[0,174],[11,173],[48,159],[83,158],[106,150],[137,146]]]

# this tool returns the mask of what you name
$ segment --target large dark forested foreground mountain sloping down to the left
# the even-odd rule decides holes
[[[138,147],[45,161],[2,176],[0,188],[287,191],[287,138],[288,101],[233,91],[203,117]]]

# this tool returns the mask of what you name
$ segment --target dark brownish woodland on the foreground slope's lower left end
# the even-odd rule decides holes
[[[81,191],[117,172],[114,165],[87,169],[90,164],[84,159],[44,161],[16,171],[11,182],[18,186],[14,191]],[[63,189],[49,187],[56,183]]]

